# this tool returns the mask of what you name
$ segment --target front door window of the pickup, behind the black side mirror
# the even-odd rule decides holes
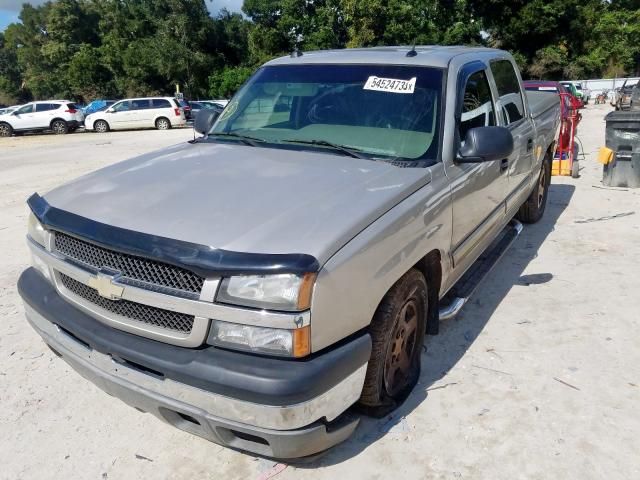
[[[458,133],[464,142],[467,132],[476,127],[495,126],[496,114],[489,81],[484,71],[472,74],[464,88]]]

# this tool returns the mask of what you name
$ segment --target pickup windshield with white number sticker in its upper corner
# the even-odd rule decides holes
[[[224,141],[233,137],[215,134],[250,136],[271,148],[339,145],[367,158],[435,160],[441,91],[442,70],[436,68],[263,67],[229,102],[210,135]]]

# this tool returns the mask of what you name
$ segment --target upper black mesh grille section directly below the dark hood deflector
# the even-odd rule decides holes
[[[184,268],[109,250],[62,232],[55,232],[54,248],[81,264],[95,269],[110,267],[120,272],[125,279],[151,286],[160,285],[199,295],[204,284],[204,278]]]

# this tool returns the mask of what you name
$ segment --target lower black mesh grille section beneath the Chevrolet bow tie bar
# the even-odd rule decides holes
[[[128,300],[109,300],[101,297],[94,288],[78,282],[64,273],[60,273],[59,275],[62,284],[71,293],[109,312],[146,323],[147,325],[154,325],[186,334],[191,332],[194,320],[193,315],[172,312]]]

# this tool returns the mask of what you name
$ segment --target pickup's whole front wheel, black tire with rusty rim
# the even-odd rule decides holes
[[[428,311],[424,275],[411,269],[384,296],[373,316],[371,358],[359,405],[384,416],[409,395],[420,377]]]

